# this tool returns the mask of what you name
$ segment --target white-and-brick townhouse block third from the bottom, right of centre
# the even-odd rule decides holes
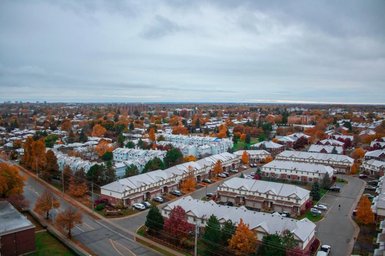
[[[323,179],[326,173],[331,179],[333,170],[334,169],[328,165],[274,160],[262,167],[262,175],[281,179],[313,182]]]

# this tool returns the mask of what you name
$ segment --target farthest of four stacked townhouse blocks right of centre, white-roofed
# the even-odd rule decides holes
[[[275,159],[329,165],[342,173],[349,173],[354,164],[354,159],[346,155],[298,151],[284,151],[276,155]]]

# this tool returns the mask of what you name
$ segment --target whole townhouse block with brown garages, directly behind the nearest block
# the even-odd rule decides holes
[[[301,187],[257,179],[232,178],[218,185],[221,202],[252,208],[272,208],[277,212],[299,213],[309,202],[310,191]]]

